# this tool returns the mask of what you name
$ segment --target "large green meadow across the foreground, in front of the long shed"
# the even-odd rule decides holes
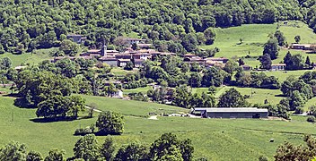
[[[303,134],[316,134],[316,127],[305,118],[295,117],[292,122],[247,119],[195,119],[185,117],[158,117],[149,120],[136,115],[146,115],[154,109],[183,111],[181,108],[104,97],[85,97],[88,103],[96,103],[101,110],[119,111],[125,114],[125,132],[113,136],[118,146],[133,140],[149,145],[163,132],[173,132],[180,139],[189,138],[195,147],[195,157],[210,160],[256,160],[260,155],[273,158],[276,148],[291,141],[303,143]],[[96,117],[73,122],[34,123],[35,109],[13,106],[12,97],[0,97],[0,144],[16,140],[40,151],[45,156],[50,148],[66,149],[71,157],[78,127],[95,123]],[[151,108],[147,108],[151,106]],[[96,114],[95,114],[96,115]],[[99,136],[101,142],[105,137]],[[270,143],[273,138],[275,142]]]

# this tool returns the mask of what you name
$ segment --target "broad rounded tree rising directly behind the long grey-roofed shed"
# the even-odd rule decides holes
[[[219,97],[218,107],[244,107],[247,106],[248,103],[241,96],[241,93],[232,88],[227,90],[221,97]]]

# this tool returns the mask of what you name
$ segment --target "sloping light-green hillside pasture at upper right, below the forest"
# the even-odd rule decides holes
[[[217,28],[215,29],[217,34],[215,43],[211,46],[201,46],[201,48],[219,47],[220,52],[215,55],[216,57],[234,58],[244,57],[246,55],[259,56],[262,55],[263,45],[268,41],[268,35],[276,32],[277,26],[279,26],[278,30],[284,32],[289,45],[294,43],[294,37],[296,35],[301,36],[302,40],[300,43],[316,43],[316,34],[313,33],[306,24],[301,21],[289,21],[288,25],[283,25],[283,22],[278,22],[275,24],[241,25],[240,27],[227,29]],[[240,42],[240,38],[242,38],[242,43]],[[287,52],[287,49],[281,49],[278,58],[273,61],[273,64],[282,62]],[[311,61],[316,62],[316,55],[295,50],[291,50],[291,53],[301,54],[304,59],[309,55]],[[260,64],[257,58],[245,58],[244,62],[252,67],[259,67]]]

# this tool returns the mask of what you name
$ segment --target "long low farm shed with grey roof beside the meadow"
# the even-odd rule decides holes
[[[268,109],[259,108],[195,108],[205,118],[268,118]]]

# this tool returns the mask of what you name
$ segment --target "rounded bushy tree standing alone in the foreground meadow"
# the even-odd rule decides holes
[[[121,134],[124,131],[124,116],[117,112],[105,111],[99,114],[96,126],[104,134]]]

